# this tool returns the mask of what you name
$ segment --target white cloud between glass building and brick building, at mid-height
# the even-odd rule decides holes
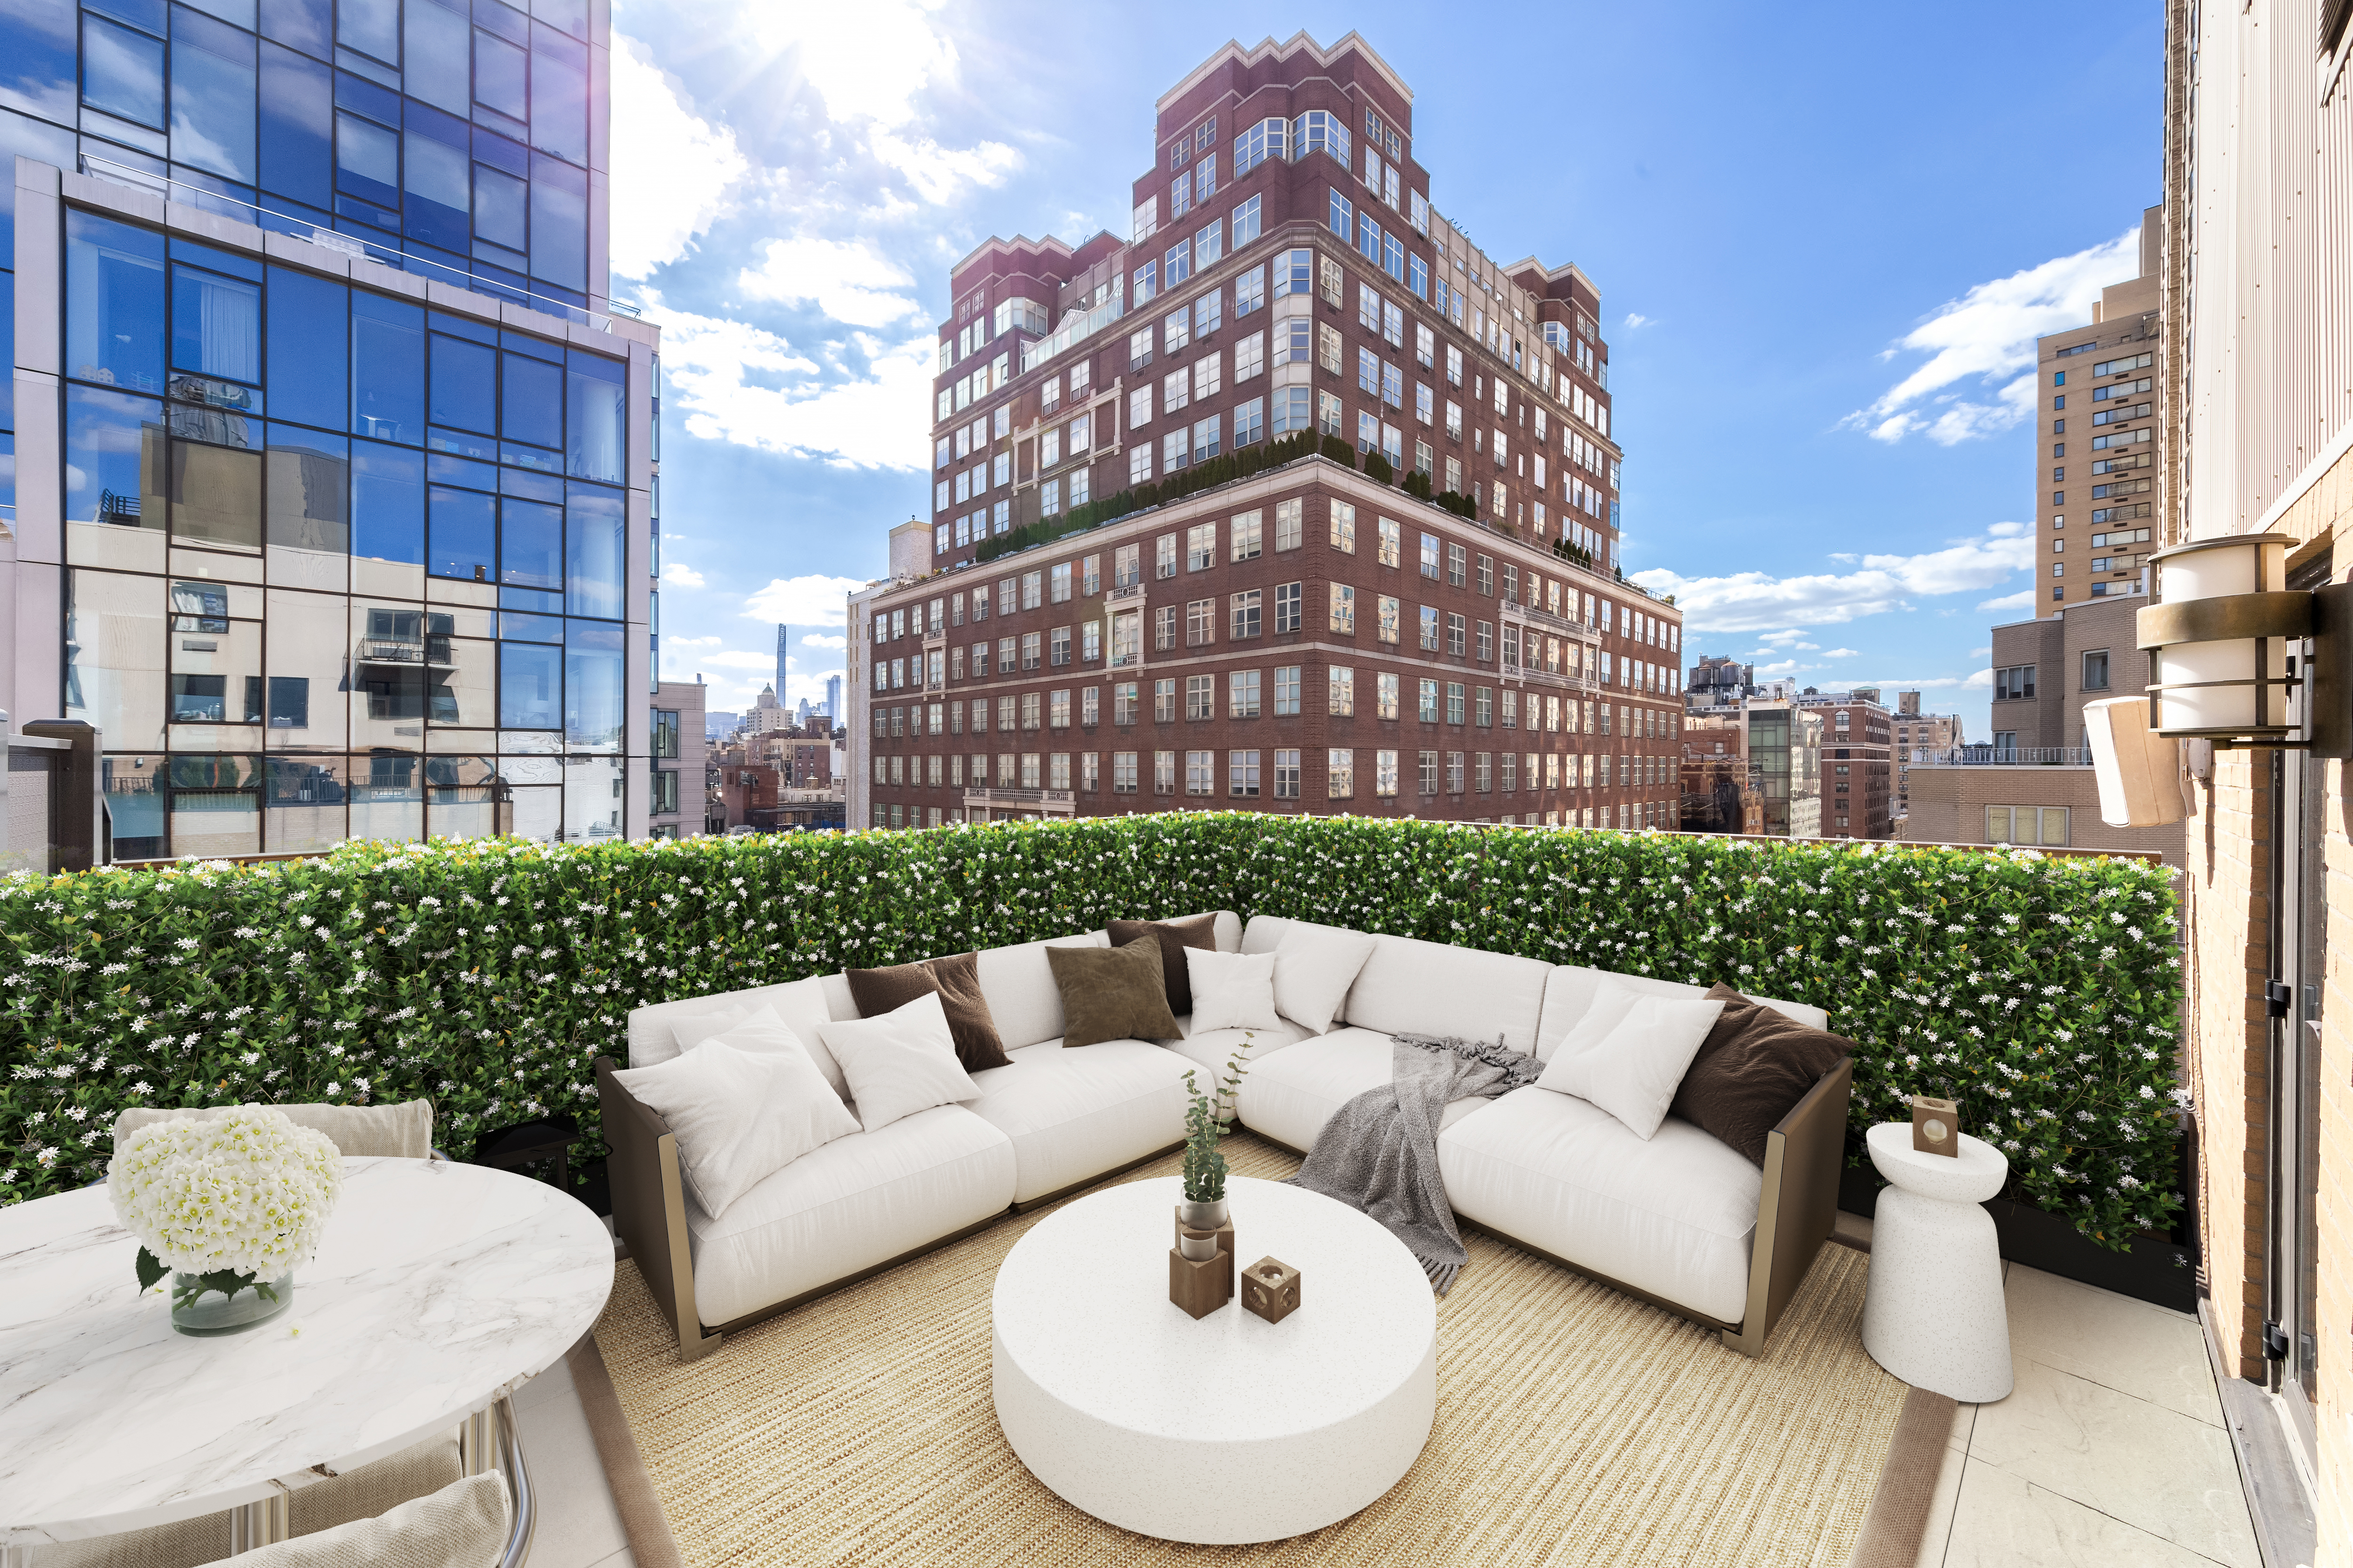
[[[659,294],[647,289],[647,299]],[[772,331],[680,310],[661,313],[661,369],[687,435],[840,468],[922,468],[932,428],[929,336],[882,346],[854,336],[866,374],[824,381],[814,360]]]

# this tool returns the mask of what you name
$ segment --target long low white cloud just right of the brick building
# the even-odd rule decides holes
[[[1777,578],[1765,571],[1687,578],[1671,569],[1640,571],[1633,581],[1675,595],[1685,625],[1704,632],[1765,632],[1767,628],[1840,625],[1859,616],[1904,609],[1915,597],[1993,588],[2033,564],[2031,538],[1960,538],[1922,555],[1866,555],[1859,571]],[[1795,632],[1767,637],[1791,639]]]

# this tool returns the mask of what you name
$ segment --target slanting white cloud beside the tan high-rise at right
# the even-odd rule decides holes
[[[2087,324],[2099,292],[2137,275],[2139,254],[2141,235],[2134,228],[1946,301],[1882,355],[1925,353],[1927,362],[1842,423],[1880,442],[1920,433],[1946,447],[2009,430],[2035,409],[2035,339]],[[1969,376],[1991,388],[1991,402],[1944,390]],[[1927,409],[1918,407],[1922,400],[1929,400]]]

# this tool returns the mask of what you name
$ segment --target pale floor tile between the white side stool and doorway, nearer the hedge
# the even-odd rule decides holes
[[[2009,1272],[2007,1298],[2012,1354],[2224,1425],[2195,1316],[2026,1265]]]

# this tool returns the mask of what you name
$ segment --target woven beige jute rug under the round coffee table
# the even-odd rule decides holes
[[[1228,1140],[1226,1159],[1264,1178],[1299,1166],[1249,1135]],[[1169,1154],[1111,1180],[1176,1171]],[[614,1493],[638,1514],[640,1568],[1842,1568],[1911,1563],[1918,1549],[1920,1474],[1934,1483],[1951,1403],[1913,1396],[1906,1410],[1906,1385],[1864,1354],[1864,1253],[1826,1246],[1751,1361],[1713,1331],[1478,1234],[1438,1302],[1438,1422],[1405,1481],[1282,1542],[1132,1535],[1040,1486],[998,1429],[988,1295],[1042,1213],[729,1335],[694,1363],[678,1361],[624,1262],[584,1345],[602,1352],[609,1385],[593,1366],[576,1382]]]

